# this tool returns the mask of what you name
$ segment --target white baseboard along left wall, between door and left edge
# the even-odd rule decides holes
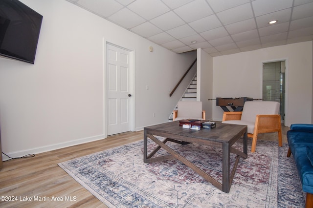
[[[41,146],[41,147],[33,148],[33,149],[26,149],[26,150],[16,151],[16,152],[4,152],[4,153],[7,154],[9,157],[19,158],[19,157],[23,157],[23,156],[28,155],[28,154],[39,154],[39,153],[43,153],[43,152],[47,152],[47,151],[52,151],[55,149],[61,149],[61,148],[65,148],[68,146],[80,145],[80,144],[93,142],[93,141],[97,141],[97,140],[101,140],[101,139],[105,139],[105,138],[106,138],[105,135],[97,135],[97,136],[93,136],[93,137],[82,138],[82,139],[73,140],[73,141],[69,141],[69,142],[65,142],[65,143],[59,143],[59,144],[55,144],[55,145]],[[2,154],[2,161],[6,161],[9,159],[10,158],[8,158],[6,155]]]

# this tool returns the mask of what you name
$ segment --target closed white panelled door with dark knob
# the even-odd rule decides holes
[[[132,56],[107,44],[107,135],[131,130]]]

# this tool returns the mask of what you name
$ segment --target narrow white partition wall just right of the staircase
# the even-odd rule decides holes
[[[197,49],[197,84],[202,101],[202,108],[205,110],[205,119],[212,120],[212,99],[213,96],[213,58],[202,49]]]

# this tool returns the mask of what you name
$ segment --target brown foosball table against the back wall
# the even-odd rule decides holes
[[[262,100],[262,99],[242,97],[242,98],[216,98],[216,99],[209,99],[209,100],[216,100],[216,106],[220,106],[224,111],[229,112],[230,110],[227,106],[230,106],[234,111],[242,111],[246,101]]]

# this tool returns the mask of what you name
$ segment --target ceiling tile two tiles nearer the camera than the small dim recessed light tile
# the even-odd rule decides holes
[[[158,16],[155,19],[152,19],[150,22],[155,24],[162,30],[169,30],[185,23],[179,18],[179,16],[177,16],[172,11],[167,12],[161,16]]]

